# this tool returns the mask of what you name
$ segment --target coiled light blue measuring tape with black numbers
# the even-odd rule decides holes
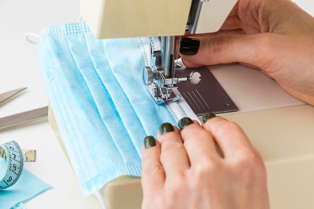
[[[0,157],[7,159],[7,172],[0,181],[0,189],[6,189],[15,184],[22,174],[23,153],[16,141],[10,141],[0,145]]]

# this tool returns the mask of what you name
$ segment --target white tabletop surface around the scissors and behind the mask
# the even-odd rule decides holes
[[[294,2],[314,16],[312,1]],[[25,33],[39,34],[44,27],[75,22],[78,16],[75,0],[0,1],[0,93],[28,88],[0,108],[0,117],[48,105],[36,45],[25,41]],[[25,168],[53,187],[25,203],[28,208],[89,208],[47,120],[0,132],[0,143],[11,140],[36,149],[36,162],[26,162]]]

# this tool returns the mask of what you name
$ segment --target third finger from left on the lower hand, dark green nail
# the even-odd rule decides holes
[[[182,121],[179,124],[182,124]],[[188,121],[187,119],[185,119]],[[190,119],[191,120],[191,119]],[[187,122],[184,122],[187,124]],[[180,125],[179,125],[180,126]],[[184,141],[185,149],[188,152],[191,165],[202,161],[204,156],[219,157],[216,144],[210,132],[206,131],[199,123],[185,125],[181,131],[181,137]],[[207,158],[206,158],[207,159]]]

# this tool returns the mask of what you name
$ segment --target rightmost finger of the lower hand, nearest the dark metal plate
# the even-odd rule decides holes
[[[222,117],[213,117],[202,126],[213,135],[225,159],[243,155],[248,151],[255,152],[244,131],[234,122]]]

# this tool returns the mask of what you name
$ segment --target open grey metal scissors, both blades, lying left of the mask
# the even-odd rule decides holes
[[[14,98],[17,94],[27,88],[15,89],[0,94],[0,106],[7,103],[9,100]],[[28,123],[34,120],[42,119],[48,116],[48,106],[30,110],[27,112],[18,113],[15,115],[0,118],[0,131],[5,128],[17,126],[20,124]]]

